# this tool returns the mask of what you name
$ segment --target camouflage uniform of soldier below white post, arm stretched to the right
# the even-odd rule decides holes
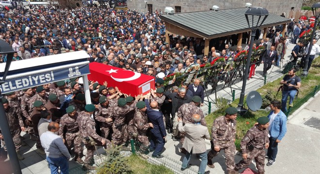
[[[105,138],[100,137],[96,133],[95,129],[95,120],[91,118],[91,116],[84,111],[79,113],[79,116],[77,117],[77,122],[79,126],[79,136],[82,142],[84,143],[85,147],[87,148],[87,153],[85,155],[85,163],[90,163],[90,160],[93,157],[93,153],[95,151],[95,145],[92,145],[91,141],[87,141],[86,138],[90,137],[93,139],[93,141],[96,143],[96,145],[102,146],[101,141],[105,140],[106,144],[104,145],[105,148],[109,147],[111,142]]]

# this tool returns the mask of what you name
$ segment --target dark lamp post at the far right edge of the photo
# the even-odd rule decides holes
[[[304,77],[306,77],[308,75],[308,64],[309,64],[310,53],[311,53],[311,50],[312,50],[312,42],[313,42],[313,39],[314,39],[314,36],[315,36],[315,33],[316,33],[317,24],[318,24],[318,20],[319,20],[319,17],[320,17],[320,13],[319,13],[319,15],[316,14],[317,10],[319,8],[320,8],[320,2],[314,3],[312,5],[312,7],[311,7],[312,13],[316,17],[316,19],[315,19],[315,25],[313,27],[313,31],[312,31],[312,35],[311,35],[311,40],[310,40],[310,43],[309,43],[308,53],[304,58],[304,70],[302,72],[302,76],[304,76]]]

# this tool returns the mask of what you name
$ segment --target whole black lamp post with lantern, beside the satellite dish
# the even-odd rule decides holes
[[[246,112],[246,109],[243,108],[244,91],[245,91],[245,86],[247,84],[247,78],[248,78],[250,60],[251,60],[251,54],[252,54],[252,47],[253,47],[254,39],[256,36],[256,29],[261,27],[262,23],[268,17],[269,12],[265,8],[251,7],[245,12],[244,15],[245,15],[245,18],[247,19],[248,26],[251,29],[251,39],[250,39],[249,51],[248,51],[248,55],[247,55],[247,61],[245,64],[245,71],[244,71],[244,75],[243,75],[243,83],[242,83],[242,88],[241,88],[241,93],[240,93],[240,100],[239,100],[239,104],[237,107],[237,110],[240,112],[240,115],[243,115]],[[249,20],[251,20],[251,21],[249,21]]]

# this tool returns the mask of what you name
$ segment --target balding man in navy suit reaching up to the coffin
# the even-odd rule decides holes
[[[153,151],[153,158],[163,158],[161,151],[164,147],[167,133],[164,127],[163,114],[158,109],[158,102],[153,101],[149,104],[150,95],[151,93],[148,93],[144,96],[146,114],[149,122],[153,125],[153,129],[151,129],[150,152]]]

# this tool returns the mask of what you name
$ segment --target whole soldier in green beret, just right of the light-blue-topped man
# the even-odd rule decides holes
[[[81,151],[81,140],[79,137],[79,127],[77,117],[79,113],[76,111],[76,107],[70,105],[66,109],[67,114],[61,117],[59,124],[59,135],[64,140],[65,145],[68,149],[71,149],[72,144],[74,145],[75,158],[79,164],[83,164],[83,160],[80,158]]]

